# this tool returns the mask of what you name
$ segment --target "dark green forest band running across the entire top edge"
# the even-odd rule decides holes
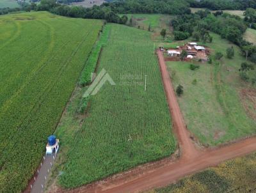
[[[31,0],[31,2],[33,1],[37,0]],[[8,12],[17,12],[17,10],[48,10],[52,13],[60,13],[60,15],[70,17],[94,19],[108,19],[109,15],[111,15],[111,20],[118,22],[117,13],[164,13],[182,15],[189,14],[191,12],[190,7],[207,8],[209,10],[246,10],[246,8],[256,8],[256,0],[115,0],[108,1],[100,6],[93,6],[93,8],[71,8],[65,4],[61,5],[58,3],[63,3],[64,1],[70,2],[73,0],[42,0],[37,6],[35,3],[31,3],[24,4],[21,8],[16,9],[0,9],[0,15]],[[115,15],[115,18],[113,15]]]

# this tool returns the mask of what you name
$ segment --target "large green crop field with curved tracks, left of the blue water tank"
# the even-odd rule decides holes
[[[101,27],[47,12],[0,17],[0,192],[33,176]]]

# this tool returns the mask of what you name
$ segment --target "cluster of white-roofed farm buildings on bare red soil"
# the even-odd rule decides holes
[[[176,49],[168,49],[166,53],[170,58],[179,58],[182,50],[186,50],[188,56],[186,60],[191,60],[193,58],[200,59],[201,61],[207,61],[208,50],[205,47],[197,45],[196,42],[189,42],[186,45],[178,46]]]

